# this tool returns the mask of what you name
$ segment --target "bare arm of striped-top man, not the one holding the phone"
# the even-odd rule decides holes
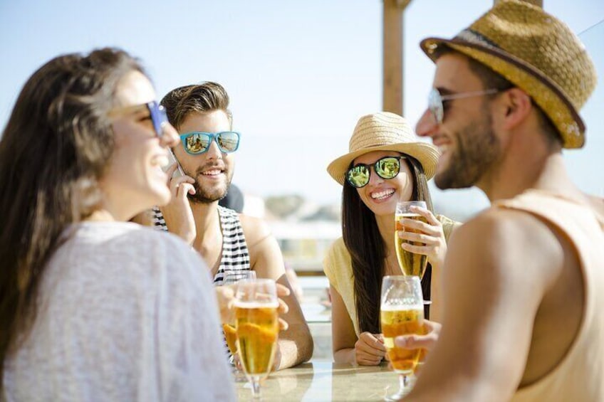
[[[287,280],[283,255],[277,240],[264,221],[244,215],[240,218],[249,249],[251,269],[256,271],[258,277],[274,279],[291,290],[288,296],[282,297],[289,311],[281,315],[281,318],[289,327],[279,333],[278,353],[281,355],[281,361],[278,369],[286,369],[308,361],[313,356],[313,338],[300,304]]]

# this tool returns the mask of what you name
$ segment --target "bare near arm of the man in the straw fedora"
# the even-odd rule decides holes
[[[442,271],[442,332],[410,401],[511,398],[533,319],[562,269],[556,245],[545,224],[519,211],[491,210],[457,229]]]

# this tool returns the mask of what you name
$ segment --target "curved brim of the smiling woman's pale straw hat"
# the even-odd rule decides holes
[[[349,152],[348,154],[345,154],[331,162],[329,166],[327,166],[327,172],[340,185],[344,185],[346,180],[346,171],[348,170],[350,163],[361,155],[374,151],[400,152],[401,154],[406,154],[417,159],[417,161],[420,162],[424,168],[424,173],[427,180],[432,179],[434,174],[436,174],[438,158],[440,156],[438,149],[434,147],[434,145],[428,144],[427,142],[401,142],[397,144],[386,144],[380,145],[379,147],[368,147],[359,149],[355,152]]]

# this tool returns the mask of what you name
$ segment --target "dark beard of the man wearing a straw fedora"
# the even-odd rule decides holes
[[[448,166],[434,177],[439,189],[474,186],[499,159],[501,143],[494,133],[493,119],[486,107],[481,109],[484,118],[470,123],[455,135],[456,148],[449,155]]]

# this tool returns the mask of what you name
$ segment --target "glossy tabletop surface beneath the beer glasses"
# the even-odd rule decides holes
[[[252,401],[248,383],[236,383],[239,401]],[[261,384],[261,401],[383,401],[398,390],[398,376],[380,366],[310,361],[271,373]]]

